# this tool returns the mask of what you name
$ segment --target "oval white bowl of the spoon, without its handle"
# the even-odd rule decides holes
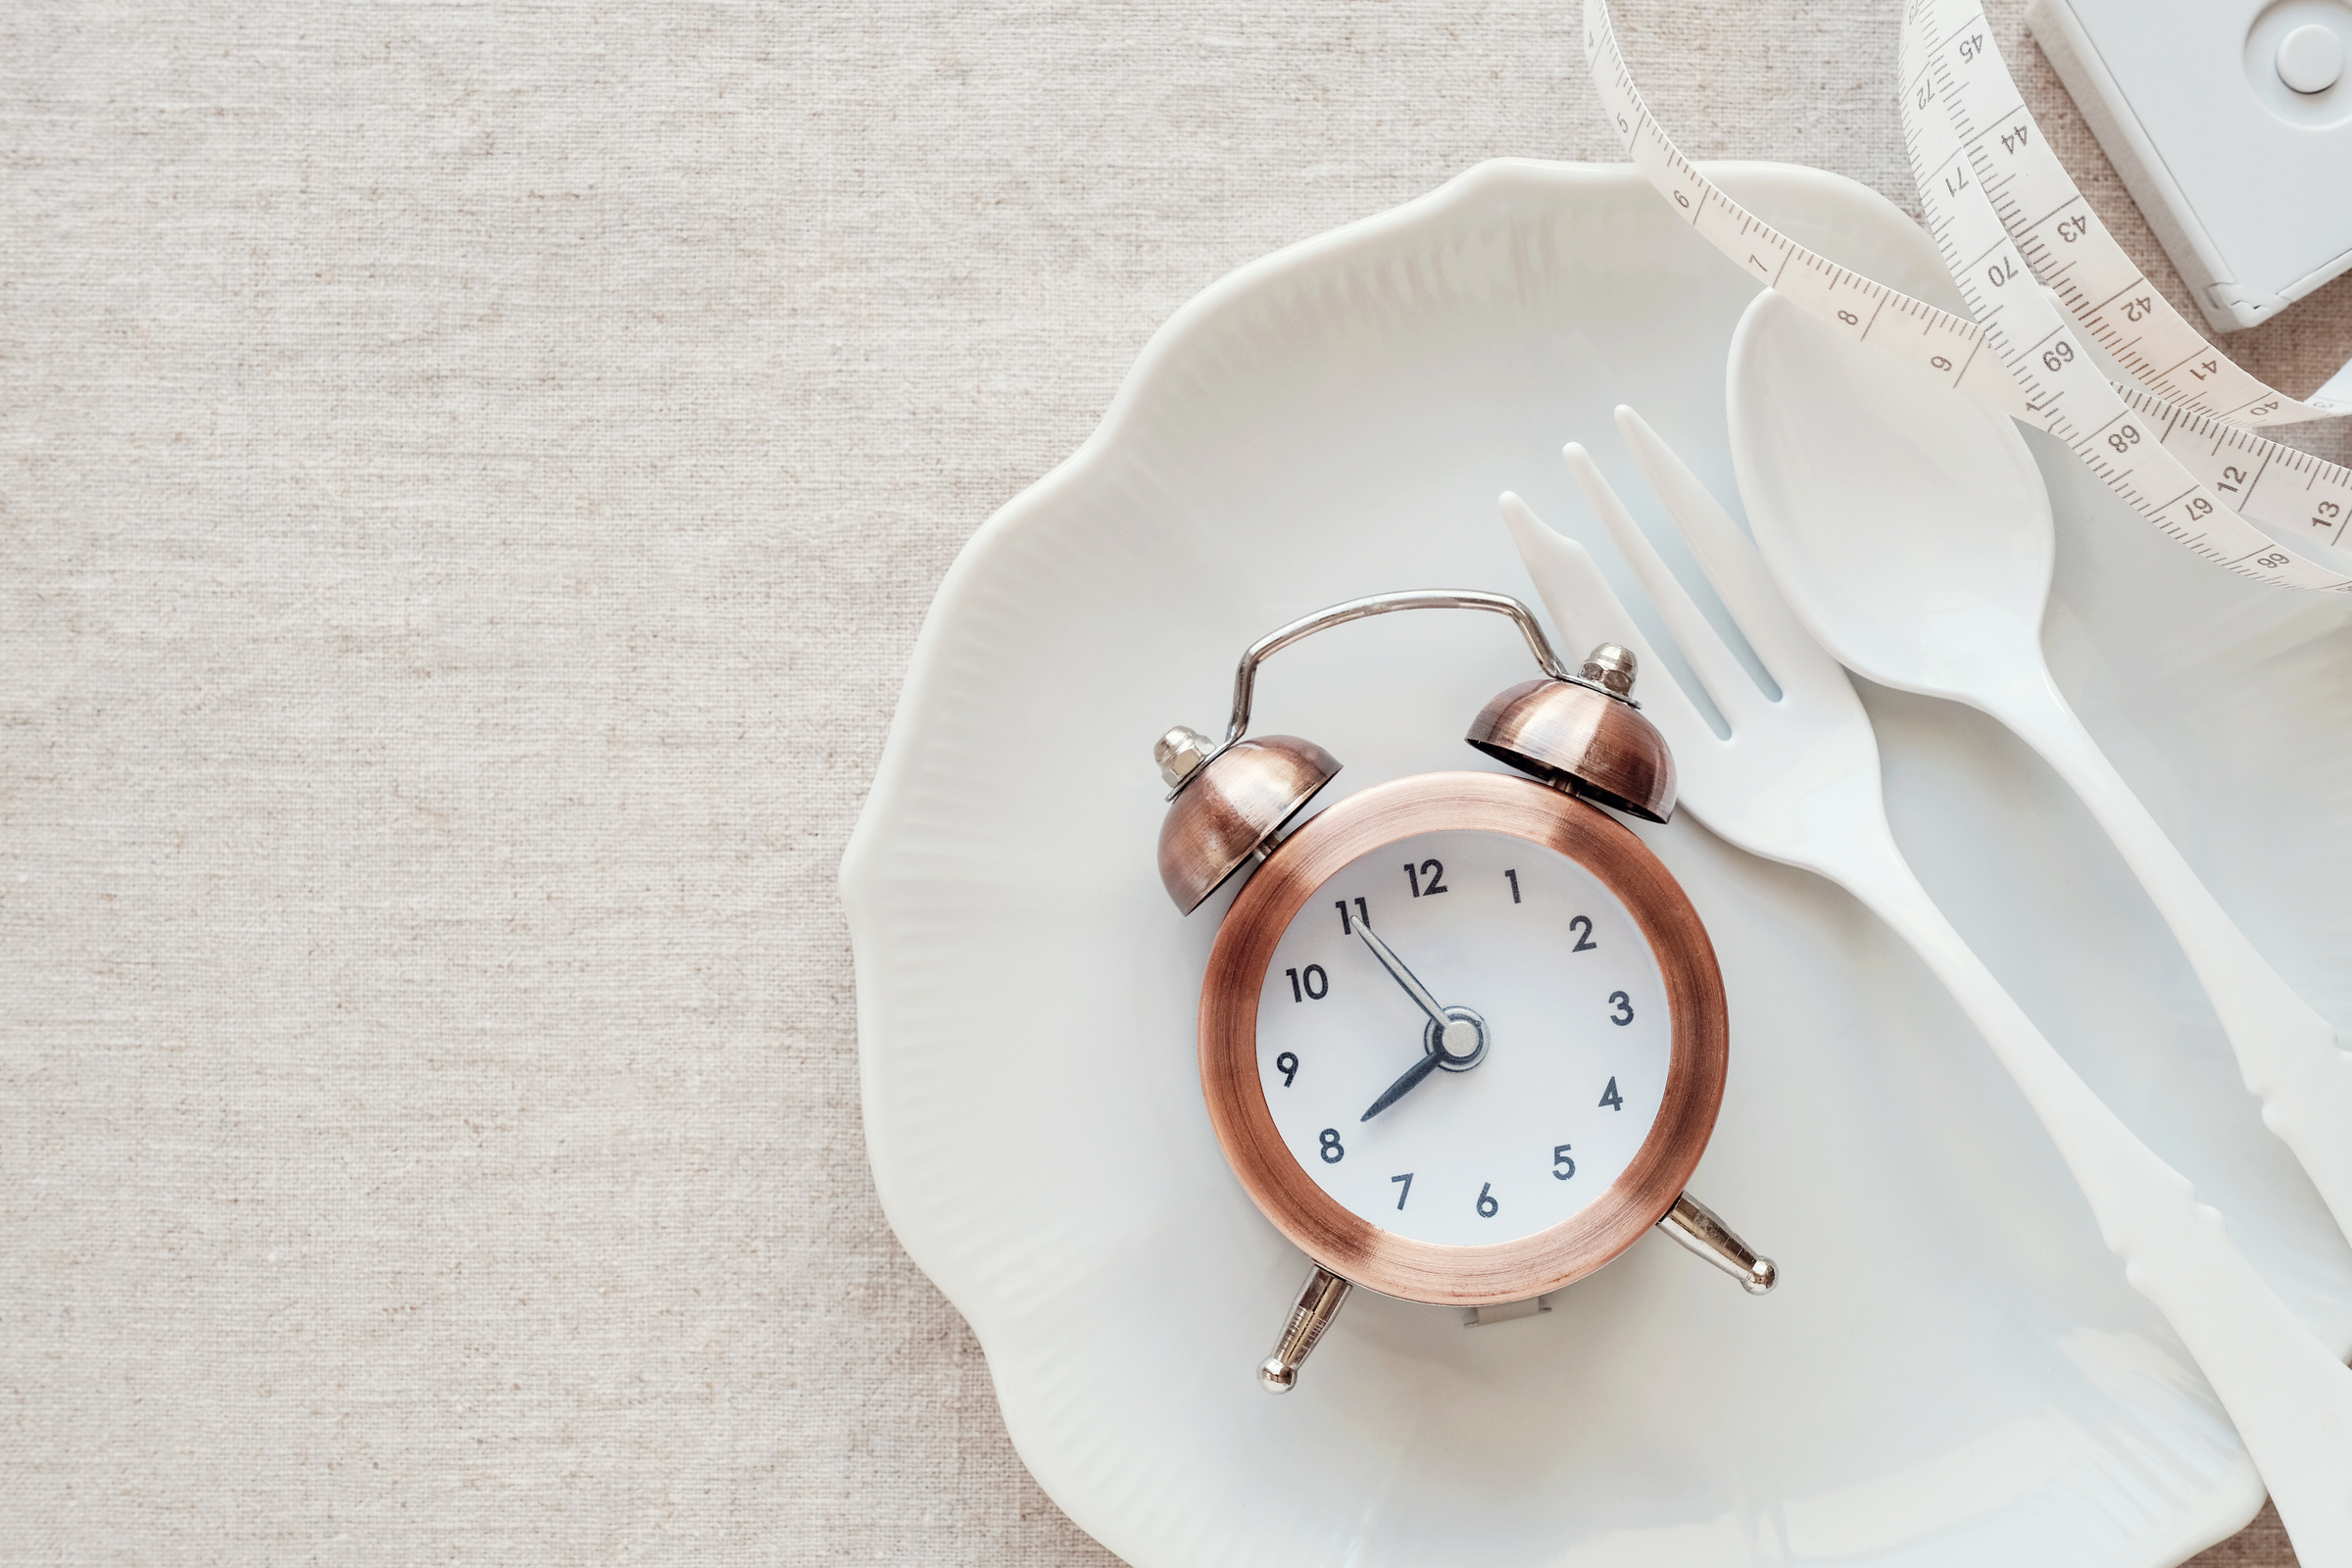
[[[1882,686],[1973,701],[2042,663],[2049,491],[1994,414],[1764,289],[1731,336],[1731,461],[1797,618]]]

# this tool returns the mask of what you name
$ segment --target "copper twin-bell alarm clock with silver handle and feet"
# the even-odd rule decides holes
[[[1418,773],[1305,818],[1341,764],[1249,736],[1263,661],[1402,609],[1508,616],[1541,675],[1465,741],[1519,776]],[[1225,738],[1155,745],[1160,879],[1185,914],[1235,877],[1200,990],[1200,1081],[1232,1173],[1310,1260],[1268,1392],[1298,1380],[1350,1288],[1489,1324],[1599,1269],[1653,1225],[1750,1293],[1769,1258],[1684,1182],[1729,1063],[1724,980],[1689,896],[1611,811],[1675,809],[1635,658],[1578,672],[1512,597],[1388,592],[1254,642]],[[1296,827],[1291,827],[1298,823]]]

